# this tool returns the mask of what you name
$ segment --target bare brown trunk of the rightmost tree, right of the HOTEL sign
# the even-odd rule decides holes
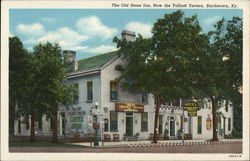
[[[218,101],[215,97],[211,97],[212,100],[212,115],[213,115],[213,138],[212,141],[218,141],[218,136],[217,136],[217,106],[218,106]]]

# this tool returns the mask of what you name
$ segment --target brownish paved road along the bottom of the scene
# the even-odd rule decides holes
[[[10,147],[10,152],[86,152],[86,153],[242,153],[242,144],[162,146],[162,147]]]

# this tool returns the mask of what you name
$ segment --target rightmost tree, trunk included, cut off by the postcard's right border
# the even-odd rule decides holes
[[[218,101],[229,99],[242,86],[242,23],[239,18],[233,18],[227,24],[222,19],[214,27],[215,30],[208,33],[207,52],[199,56],[193,93],[212,101],[212,141],[217,141]]]

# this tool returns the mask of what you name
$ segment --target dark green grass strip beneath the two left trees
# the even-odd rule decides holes
[[[10,141],[10,147],[65,147],[65,148],[84,148],[84,145],[72,145],[64,143],[52,143],[48,141]]]

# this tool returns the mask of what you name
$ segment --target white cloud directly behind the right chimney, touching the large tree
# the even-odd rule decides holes
[[[125,26],[125,29],[134,31],[137,34],[141,34],[143,37],[151,37],[152,27],[152,24],[144,24],[141,22],[132,21]]]

